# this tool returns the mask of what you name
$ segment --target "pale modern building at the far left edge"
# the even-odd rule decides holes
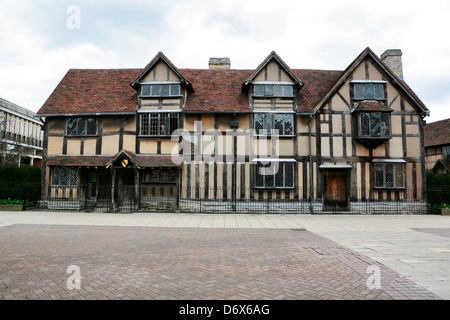
[[[35,115],[0,98],[0,163],[41,166],[43,123]]]

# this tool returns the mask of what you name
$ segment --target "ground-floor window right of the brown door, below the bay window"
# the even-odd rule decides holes
[[[404,163],[375,163],[373,171],[376,189],[402,189],[405,187]]]

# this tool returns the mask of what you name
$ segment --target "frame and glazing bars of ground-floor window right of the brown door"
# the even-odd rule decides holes
[[[406,188],[406,177],[405,177],[405,164],[406,161],[374,161],[373,163],[373,189],[375,190],[404,190]],[[392,166],[392,172],[390,172],[390,175],[392,177],[392,181],[387,181],[389,172],[387,171],[388,166]],[[396,167],[401,167],[401,186],[398,184],[398,181],[396,181],[397,177],[396,174],[398,173],[396,170]],[[377,169],[377,168],[381,168]],[[377,172],[382,172],[383,174],[383,185],[379,185],[378,182],[380,181],[377,177]]]

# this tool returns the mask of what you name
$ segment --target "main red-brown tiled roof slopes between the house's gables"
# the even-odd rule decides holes
[[[137,92],[130,83],[141,69],[72,69],[62,79],[38,115],[92,113],[133,113]],[[192,83],[184,107],[188,112],[250,112],[247,93],[242,85],[253,70],[180,69]],[[292,72],[302,80],[298,112],[312,112],[331,89],[342,71],[299,70]]]

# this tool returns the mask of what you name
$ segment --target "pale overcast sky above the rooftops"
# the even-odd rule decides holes
[[[344,70],[366,47],[403,51],[406,82],[450,118],[448,0],[1,0],[0,98],[37,111],[71,68],[178,68],[210,57],[256,68],[275,50],[291,68]]]

